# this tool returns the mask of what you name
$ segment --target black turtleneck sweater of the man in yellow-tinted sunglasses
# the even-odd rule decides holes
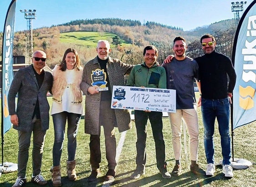
[[[229,57],[213,51],[195,58],[199,66],[202,98],[226,98],[236,84],[236,72]],[[229,84],[227,79],[229,76]]]

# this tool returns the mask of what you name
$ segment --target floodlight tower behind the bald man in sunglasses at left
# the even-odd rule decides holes
[[[29,41],[26,40],[26,60],[32,57],[33,55],[33,30],[32,30],[32,20],[36,19],[36,10],[20,10],[20,12],[24,13],[25,19],[27,20],[27,30],[29,36]],[[31,62],[30,60],[27,60]],[[27,64],[27,63],[26,63]]]

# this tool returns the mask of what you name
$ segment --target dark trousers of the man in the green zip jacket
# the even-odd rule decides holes
[[[147,121],[149,119],[151,123],[151,128],[153,132],[155,150],[156,150],[156,163],[157,168],[161,171],[166,165],[165,162],[165,145],[163,137],[163,121],[162,121],[162,112],[144,112],[142,110],[135,110],[135,126],[137,130],[137,156],[136,164],[137,169],[142,170],[146,164],[146,139],[147,139]]]

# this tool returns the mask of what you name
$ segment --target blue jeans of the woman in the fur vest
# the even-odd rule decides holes
[[[53,166],[59,166],[63,148],[67,121],[67,154],[68,161],[75,159],[77,149],[77,130],[81,114],[61,112],[52,115],[54,126],[54,144],[52,148]]]

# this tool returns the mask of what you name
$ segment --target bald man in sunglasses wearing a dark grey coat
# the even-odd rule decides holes
[[[14,76],[8,94],[10,121],[18,130],[18,177],[13,187],[21,187],[26,183],[26,166],[29,157],[31,134],[33,132],[31,182],[46,185],[41,175],[41,162],[46,130],[49,128],[49,103],[47,91],[51,91],[52,75],[44,71],[46,53],[35,51],[33,64],[20,69]],[[17,108],[15,96],[18,94]]]

